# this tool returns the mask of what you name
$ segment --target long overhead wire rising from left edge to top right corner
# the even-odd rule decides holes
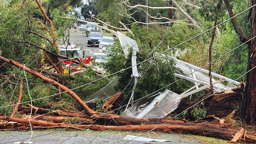
[[[165,50],[165,51],[162,52],[162,53],[159,53],[159,54],[157,54],[157,55],[155,55],[155,56],[153,56],[153,57],[151,57],[151,58],[148,58],[148,59],[146,59],[146,60],[144,60],[144,61],[142,61],[142,62],[140,62],[140,63],[138,63],[138,64],[136,64],[136,65],[142,64],[142,63],[144,63],[144,62],[146,62],[146,61],[149,61],[150,59],[155,58],[155,57],[157,57],[157,56],[160,56],[160,55],[162,55],[163,53],[166,53],[167,51],[169,51],[169,50],[171,50],[171,49],[173,49],[173,48],[176,48],[176,47],[178,47],[178,46],[180,46],[180,45],[182,45],[182,44],[184,44],[184,43],[186,43],[186,42],[189,42],[190,40],[195,39],[196,37],[199,37],[199,36],[202,35],[202,34],[205,34],[206,32],[210,31],[211,29],[214,29],[215,27],[220,26],[221,24],[227,22],[228,20],[231,20],[231,19],[237,17],[238,15],[241,15],[242,13],[246,12],[247,10],[249,10],[249,9],[251,9],[252,7],[255,7],[255,6],[256,6],[256,4],[253,5],[253,6],[251,6],[251,7],[249,7],[249,8],[247,8],[246,10],[244,10],[244,11],[238,13],[237,15],[235,15],[235,16],[233,16],[233,17],[231,17],[231,18],[229,18],[229,19],[227,19],[227,20],[225,20],[225,21],[223,21],[222,23],[219,23],[218,25],[216,25],[216,26],[214,26],[214,27],[212,27],[212,28],[210,28],[210,29],[208,29],[208,30],[206,30],[206,31],[204,31],[204,32],[202,32],[202,33],[200,33],[200,34],[198,34],[198,35],[196,35],[196,36],[194,36],[194,37],[192,37],[192,38],[190,38],[190,39],[188,39],[188,40],[186,40],[186,41],[184,41],[184,42],[182,42],[182,43],[180,43],[180,44],[178,44],[178,45],[176,45],[176,46],[174,46],[174,47],[172,47],[172,48],[170,48],[170,49],[168,49],[168,50]],[[247,42],[248,42],[248,41],[247,41]],[[114,72],[114,73],[112,73],[112,74],[110,74],[110,75],[107,75],[107,76],[105,76],[105,77],[101,77],[101,78],[99,78],[99,79],[97,79],[97,80],[91,81],[91,82],[89,82],[89,83],[87,83],[87,84],[84,84],[84,85],[82,85],[82,86],[79,86],[79,87],[76,87],[76,88],[72,88],[72,89],[70,89],[70,90],[68,90],[68,91],[72,91],[72,90],[81,88],[81,87],[83,87],[83,86],[87,86],[87,85],[89,85],[89,84],[91,84],[91,83],[94,83],[94,82],[96,82],[96,81],[98,81],[98,80],[101,80],[101,79],[103,79],[103,78],[106,78],[106,77],[115,75],[115,74],[117,74],[117,73],[119,73],[119,72],[123,72],[124,70],[130,69],[130,68],[132,68],[132,67],[133,67],[133,66],[127,67],[127,68],[122,69],[122,70],[120,70],[120,71],[118,71],[118,72]],[[59,95],[59,94],[66,93],[66,92],[68,92],[68,91],[63,91],[63,92],[61,92],[61,93],[53,94],[53,95],[46,96],[46,97],[43,97],[43,98],[39,98],[39,99],[36,99],[36,100],[48,98],[48,97],[51,97],[51,96],[56,96],[56,95]],[[20,104],[24,104],[24,103],[28,103],[28,102],[31,102],[31,101],[22,102],[22,103],[20,103]],[[0,107],[0,108],[3,108],[3,107],[10,107],[10,106],[15,106],[15,105],[18,105],[18,104],[13,104],[13,105],[8,105],[8,106],[2,106],[2,107]]]

